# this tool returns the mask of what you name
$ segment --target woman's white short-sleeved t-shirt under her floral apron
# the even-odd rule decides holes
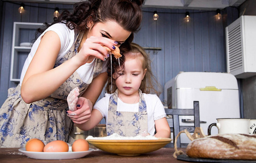
[[[44,36],[44,34],[46,32],[48,32],[50,30],[55,32],[59,36],[59,39],[61,40],[61,49],[58,53],[58,57],[57,57],[56,61],[61,60],[64,57],[64,55],[67,54],[69,49],[73,46],[74,41],[75,41],[75,36],[76,36],[74,29],[69,29],[66,26],[66,24],[64,24],[64,23],[56,23],[56,24],[53,24],[52,26],[50,26],[49,28],[47,28],[38,37],[38,39],[34,42],[32,48],[31,48],[31,52],[28,54],[28,57],[27,57],[25,64],[23,65],[23,68],[22,68],[21,77],[20,77],[20,85],[22,84],[22,81],[23,81],[23,78],[27,71],[27,68],[28,68],[31,60],[34,57],[35,52],[37,52],[37,48],[39,46],[39,43],[40,43],[42,37]],[[90,78],[91,74],[93,73],[94,63],[95,63],[95,59],[91,63],[82,65],[78,68],[78,70],[76,70],[76,72],[78,72],[78,74],[81,77],[81,79],[83,80],[83,82],[85,82],[87,84],[90,84],[90,82],[87,82],[87,81]],[[102,72],[105,72],[105,71],[106,71],[106,61],[103,62]]]

